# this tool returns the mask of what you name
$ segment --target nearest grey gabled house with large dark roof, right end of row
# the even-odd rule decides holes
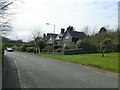
[[[70,44],[71,42],[77,42],[79,39],[83,39],[85,38],[86,35],[84,34],[84,32],[77,32],[74,30],[74,28],[72,26],[69,26],[66,30],[66,32],[64,33],[64,35],[62,36],[62,47],[66,47],[68,44]]]

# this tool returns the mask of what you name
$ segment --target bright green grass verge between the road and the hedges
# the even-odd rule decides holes
[[[34,54],[34,53],[32,53]],[[105,53],[105,57],[101,57],[101,54],[80,54],[80,55],[58,55],[58,54],[34,54],[37,56],[43,56],[52,58],[55,60],[62,60],[66,62],[72,62],[76,64],[82,64],[99,68],[101,70],[107,70],[118,73],[118,60],[119,53]]]

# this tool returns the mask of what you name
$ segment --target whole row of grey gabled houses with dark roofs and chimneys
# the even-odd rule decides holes
[[[84,32],[77,32],[72,26],[69,26],[66,31],[62,28],[60,34],[47,33],[47,35],[43,35],[47,44],[52,45],[54,43],[55,46],[62,46],[63,48],[71,42],[76,43],[85,37]]]

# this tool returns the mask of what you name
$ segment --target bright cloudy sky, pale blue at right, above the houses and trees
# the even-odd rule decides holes
[[[100,27],[111,29],[118,25],[118,0],[22,0],[15,3],[18,14],[12,20],[12,39],[30,41],[32,32],[59,34],[61,28],[69,25],[76,31],[89,26],[89,33],[98,32]],[[51,25],[46,25],[50,23]]]

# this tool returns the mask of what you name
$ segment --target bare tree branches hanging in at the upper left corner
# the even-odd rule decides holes
[[[11,31],[11,16],[14,12],[9,12],[9,7],[16,1],[22,0],[0,0],[0,36],[4,36],[6,32]],[[23,3],[23,2],[22,2]]]

